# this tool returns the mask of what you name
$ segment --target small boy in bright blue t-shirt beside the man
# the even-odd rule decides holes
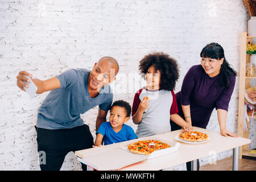
[[[128,122],[131,115],[131,106],[126,101],[115,101],[110,109],[110,122],[101,123],[94,145],[97,147],[104,145],[124,142],[136,139],[134,130],[124,123]]]

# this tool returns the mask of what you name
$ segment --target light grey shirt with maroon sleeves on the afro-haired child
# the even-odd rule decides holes
[[[174,91],[152,91],[145,87],[139,89],[134,96],[132,115],[137,112],[144,97],[149,98],[149,106],[138,124],[136,131],[138,138],[171,131],[170,115],[178,112]]]

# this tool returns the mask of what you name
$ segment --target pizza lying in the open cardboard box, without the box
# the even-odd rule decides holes
[[[160,140],[139,140],[128,145],[128,150],[135,154],[149,155],[154,151],[171,147]]]

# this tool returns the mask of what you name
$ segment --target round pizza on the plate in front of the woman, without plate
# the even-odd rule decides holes
[[[188,142],[202,142],[208,140],[208,135],[205,133],[201,133],[199,131],[189,131],[185,133],[181,133],[179,135],[179,139],[185,140]]]

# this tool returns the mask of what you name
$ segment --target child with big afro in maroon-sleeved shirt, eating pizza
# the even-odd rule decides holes
[[[138,138],[171,131],[170,119],[191,128],[177,115],[174,88],[179,78],[177,61],[163,52],[150,53],[139,62],[139,71],[147,85],[135,93],[132,116],[138,125]]]

